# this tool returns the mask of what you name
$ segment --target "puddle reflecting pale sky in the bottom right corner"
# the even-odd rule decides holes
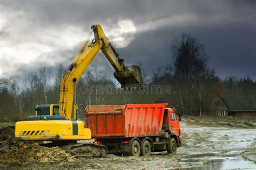
[[[208,169],[256,169],[256,165],[240,159],[215,159],[207,161],[201,167],[183,168],[186,170],[208,170]]]

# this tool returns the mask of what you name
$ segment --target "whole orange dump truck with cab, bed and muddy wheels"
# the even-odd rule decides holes
[[[175,110],[166,105],[89,105],[85,114],[87,126],[94,143],[105,145],[109,153],[176,153],[181,146],[179,121]]]

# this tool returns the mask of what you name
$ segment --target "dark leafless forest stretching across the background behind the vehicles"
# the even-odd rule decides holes
[[[170,62],[153,70],[151,77],[140,65],[144,79],[144,87],[140,89],[121,89],[107,79],[100,67],[91,66],[77,84],[77,103],[85,107],[152,103],[161,97],[183,115],[213,115],[216,110],[213,100],[221,96],[231,109],[256,108],[256,82],[250,77],[234,76],[220,80],[215,70],[207,66],[204,45],[191,34],[182,34],[170,47]],[[25,80],[0,79],[0,114],[33,114],[37,104],[58,104],[65,69],[62,65],[55,69],[43,65]],[[17,85],[19,81],[22,86]]]

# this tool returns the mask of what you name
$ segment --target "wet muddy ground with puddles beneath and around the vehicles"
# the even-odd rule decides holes
[[[10,124],[1,124],[0,129],[1,126],[8,125]],[[8,163],[4,160],[12,157],[11,154],[3,154],[0,157],[0,168],[256,169],[256,117],[186,117],[180,125],[183,146],[178,148],[177,154],[159,152],[152,153],[150,157],[139,158],[110,154],[107,158],[73,159],[68,157],[69,159],[66,159],[62,157],[65,153],[56,157],[56,154],[61,151],[55,148],[54,153],[50,152],[51,150],[47,153],[33,150],[38,152],[44,160],[31,156],[28,157],[28,161],[21,163],[18,161]],[[14,146],[9,152],[15,149]],[[33,154],[30,153],[30,155]]]

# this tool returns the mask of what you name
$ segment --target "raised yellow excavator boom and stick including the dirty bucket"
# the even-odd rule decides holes
[[[59,113],[65,119],[71,120],[72,109],[73,118],[76,119],[76,103],[73,104],[76,83],[90,65],[93,58],[99,50],[102,50],[107,60],[111,63],[114,77],[118,80],[122,87],[139,87],[142,85],[142,75],[138,66],[125,66],[124,60],[120,59],[118,53],[112,47],[109,39],[105,36],[100,25],[93,25],[92,30],[95,34],[95,40],[87,45],[86,40],[80,49],[75,61],[69,66],[69,70],[62,77],[60,84]]]

